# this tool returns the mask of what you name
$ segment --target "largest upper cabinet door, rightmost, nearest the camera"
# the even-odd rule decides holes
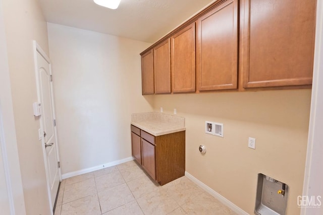
[[[311,85],[315,4],[244,0],[244,88]]]

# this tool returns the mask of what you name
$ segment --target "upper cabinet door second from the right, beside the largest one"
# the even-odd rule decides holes
[[[225,1],[196,21],[197,90],[236,89],[238,0]]]

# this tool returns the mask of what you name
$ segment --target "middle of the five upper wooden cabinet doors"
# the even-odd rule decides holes
[[[195,23],[171,37],[172,92],[195,92]]]

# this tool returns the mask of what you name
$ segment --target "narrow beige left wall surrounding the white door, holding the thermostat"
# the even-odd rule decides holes
[[[5,32],[23,191],[27,214],[50,214],[37,101],[33,43],[48,53],[46,22],[36,0],[3,0]]]

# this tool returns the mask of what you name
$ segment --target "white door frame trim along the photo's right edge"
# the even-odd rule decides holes
[[[316,30],[315,30],[315,51],[314,51],[314,67],[313,67],[313,83],[311,95],[311,109],[308,130],[308,144],[305,163],[303,196],[317,196],[323,193],[321,182],[323,180],[323,172],[321,164],[323,161],[322,140],[323,134],[321,127],[323,122],[323,0],[318,0],[316,3]],[[321,196],[323,197],[323,196]],[[323,200],[323,199],[321,199]],[[310,205],[309,205],[310,206]],[[321,214],[323,206],[312,208],[302,206],[301,214]],[[318,213],[317,213],[318,212]]]

